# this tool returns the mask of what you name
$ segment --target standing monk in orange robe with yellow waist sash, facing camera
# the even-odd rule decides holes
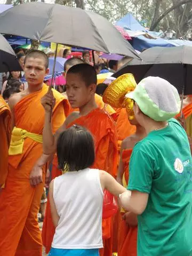
[[[9,169],[5,188],[0,194],[0,255],[42,256],[42,238],[37,213],[43,194],[45,166],[42,132],[45,113],[41,98],[48,87],[43,84],[49,59],[41,51],[31,51],[25,58],[28,89],[10,98],[12,137]],[[68,101],[52,91],[55,106],[53,132],[65,121]],[[65,114],[66,111],[66,114]]]

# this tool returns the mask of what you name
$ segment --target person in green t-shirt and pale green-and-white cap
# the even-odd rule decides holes
[[[177,89],[165,79],[147,77],[133,92],[134,115],[146,130],[129,165],[124,209],[138,214],[138,256],[191,255],[191,153]],[[171,119],[170,119],[171,118]]]

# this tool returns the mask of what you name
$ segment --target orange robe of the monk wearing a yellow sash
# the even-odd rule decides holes
[[[44,84],[42,90],[27,95],[15,105],[15,126],[31,133],[42,134],[45,111],[41,98],[47,88]],[[64,108],[68,111],[69,105],[60,93],[53,91],[53,94],[56,98],[52,118],[55,132],[65,121]],[[0,255],[42,256],[37,213],[44,182],[36,187],[31,187],[29,182],[30,171],[42,153],[41,143],[26,138],[22,154],[9,156],[5,188],[0,193]]]

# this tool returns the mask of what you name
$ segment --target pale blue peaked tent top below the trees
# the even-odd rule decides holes
[[[131,13],[127,13],[127,15],[121,20],[118,20],[115,25],[130,30],[146,31],[146,29],[133,17]]]

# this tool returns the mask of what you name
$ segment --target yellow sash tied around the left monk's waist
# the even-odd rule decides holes
[[[14,127],[11,134],[11,142],[9,147],[9,155],[22,154],[23,145],[26,138],[30,138],[39,143],[43,143],[43,136],[31,132],[27,132],[21,128]]]

